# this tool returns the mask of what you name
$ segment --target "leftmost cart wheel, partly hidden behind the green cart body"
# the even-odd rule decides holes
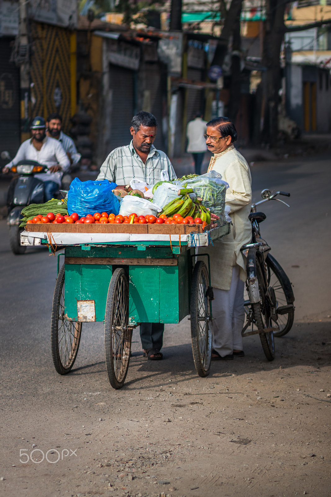
[[[80,346],[82,323],[65,319],[65,266],[56,280],[52,319],[51,349],[53,363],[59,374],[67,374],[74,365]]]

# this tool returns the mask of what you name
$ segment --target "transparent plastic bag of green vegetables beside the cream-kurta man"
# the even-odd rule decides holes
[[[229,184],[222,179],[222,175],[216,171],[209,171],[201,176],[185,180],[187,188],[192,188],[194,193],[202,198],[202,203],[217,216],[220,216],[219,224],[224,223],[225,194]]]

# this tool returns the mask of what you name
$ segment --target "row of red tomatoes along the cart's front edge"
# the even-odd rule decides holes
[[[204,228],[207,226],[205,221],[201,221],[200,218],[193,219],[192,217],[182,217],[180,214],[174,214],[172,217],[167,218],[165,214],[161,214],[160,217],[153,215],[138,216],[136,213],[130,214],[130,216],[121,216],[118,214],[107,214],[106,212],[95,212],[95,214],[87,214],[84,217],[79,217],[77,212],[74,212],[69,216],[68,214],[53,214],[49,212],[46,216],[38,214],[35,218],[27,221],[27,224],[201,224]]]

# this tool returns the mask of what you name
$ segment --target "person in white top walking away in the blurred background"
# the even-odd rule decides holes
[[[206,133],[207,121],[202,119],[202,114],[197,113],[195,119],[187,124],[186,136],[188,139],[187,152],[190,152],[194,159],[195,174],[201,174],[203,157],[207,150],[206,141],[203,135]]]

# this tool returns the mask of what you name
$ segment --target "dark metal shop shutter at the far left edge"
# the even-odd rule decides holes
[[[0,152],[14,157],[20,146],[20,89],[19,69],[9,62],[11,41],[0,38]],[[7,162],[0,159],[0,167]]]

